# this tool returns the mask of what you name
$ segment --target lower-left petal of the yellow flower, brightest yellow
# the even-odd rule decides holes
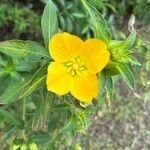
[[[58,95],[69,92],[71,77],[67,73],[67,68],[60,63],[52,62],[48,67],[47,89]]]

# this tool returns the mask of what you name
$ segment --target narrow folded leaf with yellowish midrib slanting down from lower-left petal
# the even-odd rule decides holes
[[[28,84],[21,92],[19,98],[24,98],[45,85],[46,83],[45,80],[47,76],[47,67],[48,64],[45,64],[35,73],[33,78],[28,82]]]

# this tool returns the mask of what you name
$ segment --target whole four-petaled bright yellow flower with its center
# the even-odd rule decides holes
[[[97,73],[108,63],[110,53],[102,40],[83,42],[69,33],[55,34],[49,44],[54,59],[48,67],[47,89],[58,95],[71,93],[89,102],[98,93]]]

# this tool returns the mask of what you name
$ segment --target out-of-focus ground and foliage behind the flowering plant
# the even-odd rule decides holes
[[[90,20],[79,0],[53,0],[60,30],[82,39],[93,36]],[[86,134],[74,143],[85,150],[150,149],[150,0],[88,0],[105,17],[114,39],[129,35],[132,14],[138,37],[134,55],[142,66],[135,68],[136,88],[130,91],[115,77],[112,101],[104,101],[93,115]],[[0,41],[34,40],[43,43],[41,15],[47,0],[0,0]],[[67,143],[68,144],[68,143]],[[65,144],[64,144],[65,145]],[[71,147],[72,145],[68,145]],[[62,146],[61,149],[64,147]]]

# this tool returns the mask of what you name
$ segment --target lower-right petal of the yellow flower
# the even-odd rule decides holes
[[[98,81],[95,74],[84,73],[72,80],[70,93],[82,102],[89,102],[98,93]]]

